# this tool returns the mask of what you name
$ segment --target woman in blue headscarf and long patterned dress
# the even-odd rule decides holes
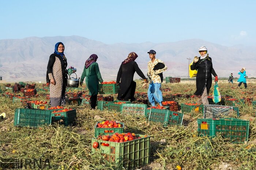
[[[65,105],[65,91],[67,86],[67,59],[64,55],[64,44],[55,44],[55,50],[50,55],[47,65],[46,82],[50,82],[51,107]]]

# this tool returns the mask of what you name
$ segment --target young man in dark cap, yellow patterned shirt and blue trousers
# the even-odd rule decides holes
[[[147,76],[150,80],[150,83],[148,86],[148,91],[147,91],[148,100],[152,104],[152,106],[155,106],[155,101],[157,103],[159,103],[160,106],[162,106],[163,96],[162,96],[162,92],[160,90],[162,81],[158,74],[167,70],[167,66],[165,66],[162,69],[154,71],[153,70],[154,66],[157,63],[163,63],[163,62],[161,60],[155,58],[156,52],[154,50],[150,50],[147,53],[149,54],[149,58],[151,59],[148,62],[148,72],[147,72]]]

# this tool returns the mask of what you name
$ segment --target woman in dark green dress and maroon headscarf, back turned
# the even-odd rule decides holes
[[[86,86],[89,90],[89,95],[91,96],[91,108],[96,108],[97,95],[99,92],[99,82],[102,84],[103,79],[101,78],[101,72],[99,71],[99,65],[96,62],[98,56],[92,54],[85,62],[83,73],[80,79],[80,86],[83,85],[83,80],[85,79]]]

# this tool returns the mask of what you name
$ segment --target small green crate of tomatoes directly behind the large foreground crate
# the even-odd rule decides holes
[[[103,135],[113,135],[114,133],[124,133],[124,123],[114,120],[97,122],[94,126],[94,137]]]

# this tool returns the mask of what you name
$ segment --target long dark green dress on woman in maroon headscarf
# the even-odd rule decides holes
[[[103,79],[101,78],[101,72],[99,72],[98,63],[94,62],[88,68],[85,68],[84,66],[80,81],[83,82],[85,77],[89,95],[97,95],[99,92],[99,82],[103,82]]]

